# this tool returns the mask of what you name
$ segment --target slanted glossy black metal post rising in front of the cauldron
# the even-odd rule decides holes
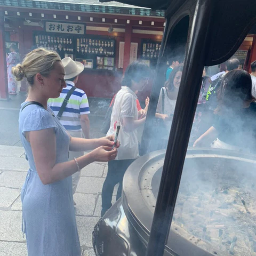
[[[190,17],[193,20],[190,21],[192,26],[187,43],[187,58],[172,121],[146,256],[164,254],[201,88],[207,30],[210,25],[213,2],[214,0],[197,0],[194,17]]]

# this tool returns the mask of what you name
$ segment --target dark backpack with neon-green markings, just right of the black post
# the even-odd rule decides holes
[[[218,89],[220,88],[223,77],[224,77],[224,74],[222,74],[217,79],[215,79],[210,84],[208,91],[204,95],[205,105],[210,110],[215,110],[218,106],[217,92],[218,92]]]

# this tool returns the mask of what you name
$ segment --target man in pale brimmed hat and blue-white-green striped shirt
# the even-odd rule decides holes
[[[84,91],[75,87],[79,74],[84,70],[84,65],[70,57],[61,61],[65,68],[66,75],[64,79],[67,87],[62,90],[59,98],[49,99],[48,104],[72,137],[89,139],[90,122],[88,114],[90,114],[90,109],[88,99]],[[69,160],[83,154],[83,152],[70,151]],[[76,172],[72,176],[73,194],[75,194],[80,173]]]

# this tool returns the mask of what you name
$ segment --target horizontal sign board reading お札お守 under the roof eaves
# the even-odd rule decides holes
[[[45,22],[45,31],[52,33],[65,33],[84,35],[85,25],[80,23]]]

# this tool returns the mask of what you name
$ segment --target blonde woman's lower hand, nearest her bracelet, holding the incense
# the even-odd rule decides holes
[[[116,158],[117,149],[114,148],[112,150],[111,147],[101,146],[99,148],[95,148],[93,151],[91,151],[90,154],[93,159],[93,162],[108,162]]]

